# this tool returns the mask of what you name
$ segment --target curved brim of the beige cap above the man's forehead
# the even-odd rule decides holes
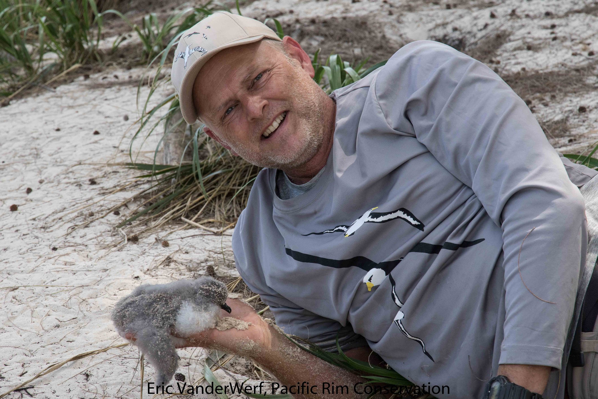
[[[195,79],[197,78],[197,74],[199,74],[200,69],[202,69],[202,66],[205,65],[205,63],[208,62],[210,58],[212,58],[213,56],[218,54],[219,51],[222,51],[225,48],[257,42],[263,39],[264,37],[267,36],[252,36],[250,38],[243,38],[240,40],[235,40],[223,44],[220,47],[216,47],[213,50],[209,51],[208,53],[203,55],[199,60],[197,60],[197,62],[191,65],[191,68],[183,77],[183,80],[181,82],[181,90],[179,92],[179,103],[181,103],[181,113],[188,124],[195,123],[197,121],[197,118],[199,117],[199,115],[197,115],[196,108],[193,103],[193,85],[195,83]]]

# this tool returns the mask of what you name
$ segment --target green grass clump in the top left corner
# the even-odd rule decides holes
[[[4,95],[23,82],[100,59],[103,13],[95,0],[0,0],[0,10]]]

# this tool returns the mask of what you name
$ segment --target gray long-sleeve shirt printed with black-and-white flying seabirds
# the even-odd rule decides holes
[[[431,41],[334,96],[318,181],[282,200],[262,170],[234,232],[277,324],[314,342],[350,324],[411,381],[449,385],[440,398],[481,397],[498,364],[560,368],[584,201],[525,103]]]

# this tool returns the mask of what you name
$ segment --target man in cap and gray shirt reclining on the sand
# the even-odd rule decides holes
[[[185,32],[172,69],[185,120],[267,168],[233,251],[277,325],[324,348],[338,333],[352,357],[450,386],[440,398],[481,398],[497,374],[563,397],[587,243],[576,185],[596,172],[560,160],[507,84],[447,45],[405,45],[331,96],[313,75],[294,39],[229,13]],[[248,330],[187,344],[285,385],[362,381],[228,304]]]

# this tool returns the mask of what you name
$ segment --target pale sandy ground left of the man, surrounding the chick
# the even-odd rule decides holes
[[[109,312],[136,285],[193,278],[214,263],[221,264],[219,275],[236,275],[233,265],[215,262],[230,251],[231,231],[215,236],[184,230],[168,236],[167,247],[161,245],[161,234],[111,248],[121,234],[113,229],[120,218],[109,215],[67,234],[69,227],[91,218],[94,209],[78,208],[135,175],[106,163],[127,160],[129,138],[123,139],[123,133],[137,116],[136,86],[120,81],[140,72],[114,70],[81,78],[1,111],[0,297],[5,311],[0,394],[48,364],[124,342]],[[146,144],[152,148],[156,143],[151,137]],[[144,155],[140,160],[151,161]],[[13,204],[18,210],[11,212]],[[179,351],[179,371],[187,381],[202,376],[202,352]],[[111,349],[36,380],[28,392],[38,398],[138,397],[137,363],[135,347]],[[151,377],[151,367],[145,370]]]

